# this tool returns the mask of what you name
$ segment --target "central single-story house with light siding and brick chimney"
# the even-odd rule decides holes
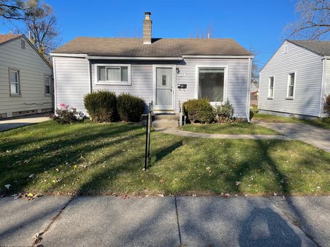
[[[107,89],[153,101],[158,113],[178,113],[187,99],[215,105],[228,98],[236,117],[249,119],[252,54],[229,38],[151,38],[150,14],[143,38],[78,37],[56,49],[56,106],[86,113],[84,95]]]

